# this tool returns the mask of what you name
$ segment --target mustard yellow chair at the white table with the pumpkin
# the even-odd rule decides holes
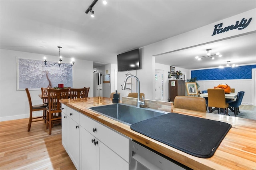
[[[226,103],[224,89],[207,89],[207,91],[209,112],[212,113],[214,107],[214,110],[218,109],[218,114],[223,110],[223,113],[228,115],[228,103]]]

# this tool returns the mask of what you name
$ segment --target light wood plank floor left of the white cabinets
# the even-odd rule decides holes
[[[0,122],[0,169],[75,170],[61,141],[61,125],[54,125],[52,135],[43,121],[28,119]]]

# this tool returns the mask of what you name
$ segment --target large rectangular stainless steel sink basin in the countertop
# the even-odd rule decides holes
[[[168,113],[165,111],[138,108],[125,104],[104,105],[98,107],[90,107],[89,109],[92,109],[101,115],[122,122],[129,126],[134,123],[138,123],[140,121]]]

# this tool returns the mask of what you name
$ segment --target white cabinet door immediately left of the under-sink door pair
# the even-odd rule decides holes
[[[68,118],[68,155],[76,169],[79,169],[79,125]]]

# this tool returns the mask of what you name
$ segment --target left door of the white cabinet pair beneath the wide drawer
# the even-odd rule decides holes
[[[80,128],[80,169],[96,170],[97,154],[94,136],[84,128]],[[95,139],[96,140],[96,139]]]

